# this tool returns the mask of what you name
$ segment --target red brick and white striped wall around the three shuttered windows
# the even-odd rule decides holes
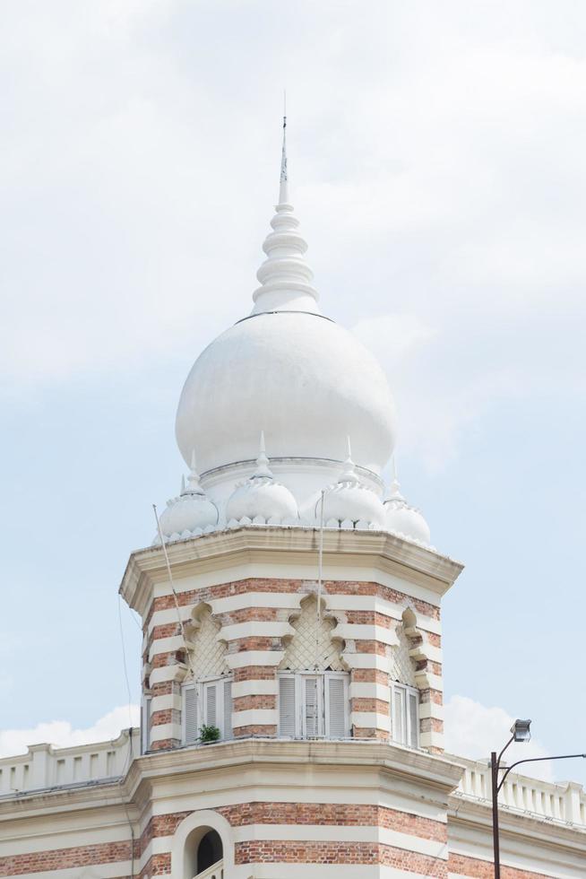
[[[211,608],[217,622],[233,675],[232,727],[237,737],[277,734],[277,670],[285,639],[295,633],[290,620],[315,590],[315,581],[305,579],[247,578],[185,590],[177,584],[182,622],[190,622],[202,604]],[[390,734],[389,674],[398,645],[396,629],[410,609],[415,618],[409,640],[420,692],[419,741],[423,748],[441,752],[439,606],[397,588],[356,580],[327,580],[322,595],[325,612],[336,622],[332,636],[341,640],[341,658],[349,670],[350,722],[358,738]],[[143,653],[144,677],[153,697],[153,750],[181,743],[180,685],[188,674],[184,648],[173,596],[163,592],[153,598],[145,622]]]

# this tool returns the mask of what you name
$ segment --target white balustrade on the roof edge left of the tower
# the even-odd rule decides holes
[[[111,742],[73,748],[31,744],[28,753],[0,759],[0,796],[118,779],[139,754],[138,729],[125,729]]]

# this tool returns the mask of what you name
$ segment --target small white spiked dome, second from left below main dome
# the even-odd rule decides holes
[[[283,519],[297,519],[298,516],[297,500],[285,485],[274,480],[261,434],[261,449],[254,474],[245,483],[239,483],[228,498],[226,521],[261,518],[277,523]]]

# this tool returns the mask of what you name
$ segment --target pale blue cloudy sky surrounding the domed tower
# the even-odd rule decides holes
[[[447,746],[527,717],[519,759],[586,751],[585,30],[578,0],[0,4],[0,753],[136,722],[117,588],[184,472],[183,381],[251,308],[284,88],[323,310],[466,564]]]

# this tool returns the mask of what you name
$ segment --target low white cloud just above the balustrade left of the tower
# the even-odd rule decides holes
[[[68,720],[49,720],[29,729],[0,730],[0,756],[26,753],[30,744],[54,744],[67,748],[77,744],[106,742],[120,735],[122,729],[138,727],[138,705],[125,705],[108,711],[91,727],[74,729]]]

